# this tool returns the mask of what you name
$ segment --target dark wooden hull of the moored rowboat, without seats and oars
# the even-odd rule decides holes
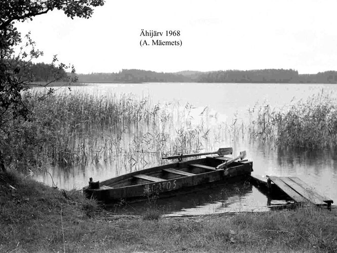
[[[165,169],[181,170],[183,173],[186,173],[187,168],[189,166],[193,166],[193,164],[201,164],[200,166],[209,167],[208,165],[214,165],[214,167],[221,161],[216,161],[209,159],[211,157],[190,160],[186,162],[177,162],[157,167],[148,168],[146,170],[134,172],[131,174],[119,176],[114,179],[106,180],[100,183],[100,188],[98,189],[90,189],[89,187],[83,188],[83,191],[89,198],[95,198],[98,201],[104,202],[115,202],[120,199],[141,199],[148,198],[151,196],[167,196],[169,192],[175,194],[177,190],[193,187],[197,185],[203,185],[207,183],[212,183],[220,180],[229,180],[235,177],[249,176],[252,172],[252,162],[237,162],[234,166],[228,168],[228,170],[211,170],[208,168],[208,171],[203,173],[191,175],[191,176],[180,176],[170,178],[170,176],[166,176],[167,179],[160,182],[147,182],[135,185],[126,185],[123,186],[122,183],[119,187],[109,187],[109,185],[118,184],[118,182],[124,182],[133,177],[139,177],[139,175],[157,175],[160,177],[162,171]],[[202,165],[207,164],[207,165]],[[194,168],[196,171],[198,168]],[[202,168],[200,168],[201,170]],[[185,172],[184,172],[185,171]],[[198,171],[200,172],[200,171]],[[187,175],[189,173],[186,173]],[[166,175],[166,174],[165,174]],[[172,175],[171,175],[172,176]]]

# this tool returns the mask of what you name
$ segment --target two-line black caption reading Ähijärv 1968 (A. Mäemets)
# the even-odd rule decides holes
[[[143,46],[178,46],[183,45],[183,41],[179,39],[181,35],[180,30],[141,30],[140,36],[143,37],[139,44]],[[158,37],[158,38],[156,38]],[[166,38],[167,37],[167,38]],[[171,39],[169,39],[171,37]],[[174,38],[175,40],[173,40]]]

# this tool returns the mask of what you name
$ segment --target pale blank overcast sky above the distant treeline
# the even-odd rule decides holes
[[[44,51],[77,73],[145,69],[337,70],[337,1],[106,0],[90,19],[53,11],[19,23]],[[179,30],[182,46],[140,46],[141,29]],[[151,43],[152,39],[147,39]]]

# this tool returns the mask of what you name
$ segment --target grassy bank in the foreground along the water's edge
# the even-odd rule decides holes
[[[197,219],[116,218],[80,192],[13,173],[0,174],[0,205],[1,252],[337,250],[336,213],[315,207]]]

